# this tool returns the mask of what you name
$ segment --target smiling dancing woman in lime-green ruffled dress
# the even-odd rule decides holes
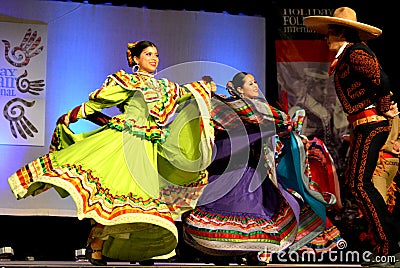
[[[149,41],[128,44],[127,58],[133,74],[109,75],[60,117],[50,152],[8,179],[17,199],[50,188],[71,196],[77,217],[93,222],[87,255],[94,265],[106,265],[103,256],[135,262],[173,256],[174,220],[196,205],[211,161],[210,85],[154,78],[159,57]],[[104,126],[79,134],[68,128],[112,106],[121,114]]]

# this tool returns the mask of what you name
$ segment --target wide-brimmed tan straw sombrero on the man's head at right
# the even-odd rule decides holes
[[[308,16],[304,18],[304,24],[311,30],[326,35],[328,25],[335,24],[350,27],[358,31],[361,40],[377,38],[382,30],[374,26],[357,21],[356,12],[349,7],[339,7],[333,12],[333,16]]]

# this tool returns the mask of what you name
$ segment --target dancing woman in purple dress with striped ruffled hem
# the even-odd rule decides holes
[[[292,121],[258,98],[257,82],[249,73],[236,74],[228,85],[231,97],[212,99],[215,157],[198,206],[182,216],[185,241],[209,255],[248,254],[251,265],[258,264],[258,252],[313,247],[314,239],[321,247],[332,247],[340,236],[336,228],[326,229],[325,207],[334,197],[325,201],[304,185],[304,144],[292,133],[304,115],[299,111],[298,121]],[[288,171],[280,178],[275,168],[282,156],[275,156],[282,145],[290,158],[279,163],[278,169],[282,165]],[[303,158],[293,159],[301,150]]]

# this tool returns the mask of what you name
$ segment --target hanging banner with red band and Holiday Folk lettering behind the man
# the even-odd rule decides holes
[[[279,96],[287,96],[288,111],[306,112],[303,134],[322,140],[330,152],[338,173],[345,155],[341,155],[342,135],[348,123],[328,68],[330,55],[324,36],[304,26],[306,16],[332,16],[335,8],[286,5],[278,8],[279,37],[275,41]],[[285,99],[285,98],[283,98]]]

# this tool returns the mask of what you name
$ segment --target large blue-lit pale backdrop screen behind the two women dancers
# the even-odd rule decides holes
[[[27,162],[48,152],[60,115],[85,101],[108,74],[120,69],[131,72],[125,54],[128,42],[148,39],[157,44],[160,54],[157,77],[184,83],[210,75],[223,91],[227,80],[243,70],[253,73],[260,87],[265,88],[263,17],[32,0],[0,0],[0,6],[2,15],[44,23],[33,25],[32,31],[40,31],[41,56],[46,56],[41,58],[37,68],[40,75],[28,73],[29,79],[43,88],[37,92],[44,101],[45,112],[37,117],[29,115],[29,119],[32,122],[44,120],[44,145],[0,144],[0,214],[3,215],[75,216],[72,199],[61,199],[53,189],[17,201],[7,178]],[[0,27],[2,39],[7,39],[4,32],[8,26],[1,24]],[[46,28],[47,34],[44,34]],[[18,38],[21,38],[20,33]],[[13,46],[20,42],[12,41]],[[0,43],[3,55],[5,49],[4,42]],[[1,68],[12,67],[6,64]],[[20,69],[22,72],[23,68]],[[21,75],[20,69],[18,75]],[[112,109],[106,112],[115,113]],[[94,128],[91,123],[82,121],[72,128],[75,131]],[[9,125],[1,125],[0,135],[9,133]]]

